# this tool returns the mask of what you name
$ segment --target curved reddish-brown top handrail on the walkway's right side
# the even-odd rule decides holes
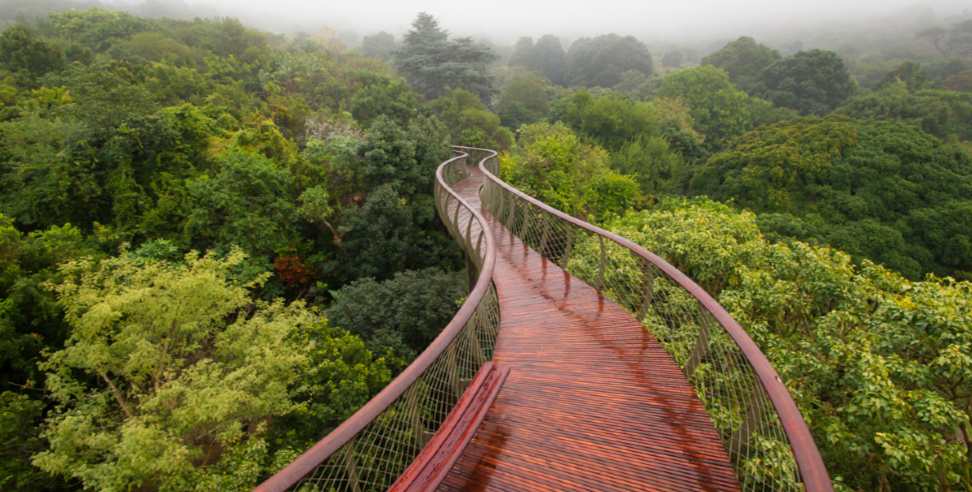
[[[786,433],[786,438],[789,441],[794,459],[799,468],[800,478],[806,490],[810,492],[828,492],[833,490],[830,475],[827,473],[827,468],[813,440],[810,429],[807,427],[800,410],[790,396],[789,390],[787,390],[772,364],[770,364],[756,343],[753,342],[749,334],[746,333],[742,326],[705,289],[667,261],[642,246],[610,231],[572,217],[506,183],[496,175],[498,174],[498,163],[496,162],[497,153],[495,151],[475,147],[456,148],[464,152],[485,154],[486,157],[480,160],[480,170],[486,176],[488,182],[498,186],[504,192],[512,194],[517,199],[529,203],[557,220],[566,222],[592,235],[602,237],[626,248],[663,272],[670,280],[690,293],[731,337],[732,341],[745,357],[746,362],[752,367],[752,370],[758,377],[759,383],[769,396],[783,426],[783,430]]]

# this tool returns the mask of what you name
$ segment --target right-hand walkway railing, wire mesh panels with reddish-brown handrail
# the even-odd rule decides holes
[[[487,210],[525,245],[633,313],[695,387],[743,490],[832,490],[796,404],[743,328],[685,274],[641,246],[571,217],[500,180],[482,158]]]

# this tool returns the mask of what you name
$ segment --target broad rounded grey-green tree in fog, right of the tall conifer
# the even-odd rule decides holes
[[[567,83],[571,86],[614,87],[628,70],[646,76],[654,70],[648,48],[633,36],[581,38],[567,51]]]

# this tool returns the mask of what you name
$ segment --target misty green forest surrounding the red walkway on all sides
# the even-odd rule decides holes
[[[523,6],[495,30],[454,6],[314,4],[0,0],[0,489],[252,489],[411,377],[482,268],[483,243],[454,241],[458,201],[436,194],[456,144],[495,149],[499,178],[718,301],[834,489],[972,487],[963,3],[825,2],[810,18],[753,2],[712,12],[721,27],[678,6],[615,25]],[[448,184],[463,173],[481,177]],[[726,410],[699,383],[739,385],[698,348],[735,339],[664,331],[708,330],[708,311],[684,314],[698,297],[670,279],[606,287],[645,267],[483,210],[552,244],[564,278],[600,268],[597,302],[680,364],[730,475],[802,489],[788,441],[759,434],[774,409]],[[473,380],[449,378],[457,395]],[[428,381],[372,417],[374,449],[341,448],[357,478],[334,488],[404,472],[417,452],[377,449],[424,446],[458,405],[404,407],[447,391]]]

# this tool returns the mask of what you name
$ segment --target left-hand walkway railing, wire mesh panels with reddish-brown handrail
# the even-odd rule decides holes
[[[459,153],[436,171],[439,216],[463,248],[475,283],[438,337],[378,395],[257,490],[385,490],[408,468],[479,368],[492,359],[499,299],[493,236],[451,185],[467,173]]]

